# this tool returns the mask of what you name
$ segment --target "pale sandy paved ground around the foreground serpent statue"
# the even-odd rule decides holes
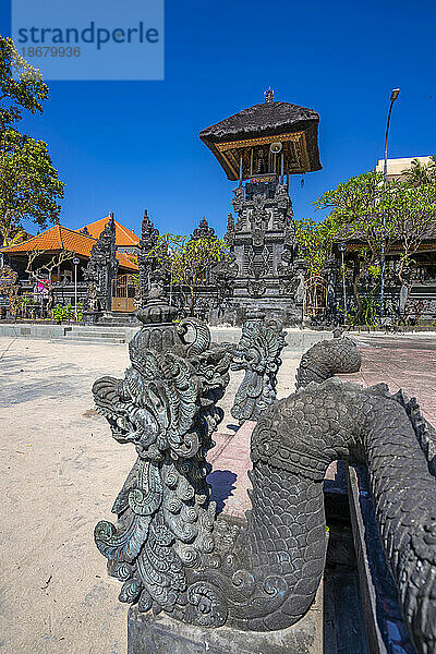
[[[350,378],[403,386],[436,424],[436,338],[361,336],[360,342],[363,372]],[[279,397],[293,389],[299,359],[284,352]],[[93,529],[113,519],[110,507],[134,453],[111,439],[93,411],[90,387],[100,375],[122,376],[126,365],[124,344],[0,338],[0,654],[125,654],[126,608]],[[232,446],[229,414],[240,379],[241,373],[232,379],[217,439],[216,471],[234,475],[216,475],[219,496],[226,495],[219,484],[232,492],[246,469],[245,449]]]

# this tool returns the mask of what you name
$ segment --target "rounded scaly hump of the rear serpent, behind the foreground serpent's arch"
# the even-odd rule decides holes
[[[324,382],[338,374],[361,370],[362,355],[350,338],[342,338],[340,329],[334,338],[315,343],[303,354],[296,371],[296,388],[311,382]]]

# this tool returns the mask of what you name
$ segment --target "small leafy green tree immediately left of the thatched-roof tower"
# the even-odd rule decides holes
[[[177,287],[192,315],[198,287],[206,282],[208,269],[229,256],[229,247],[221,239],[190,239],[167,233],[158,238],[147,256],[167,270],[170,293],[172,287]]]

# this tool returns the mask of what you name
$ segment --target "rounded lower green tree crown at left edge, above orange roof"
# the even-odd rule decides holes
[[[53,168],[48,146],[15,130],[0,137],[0,232],[3,245],[17,239],[23,220],[41,229],[57,222],[64,184]]]

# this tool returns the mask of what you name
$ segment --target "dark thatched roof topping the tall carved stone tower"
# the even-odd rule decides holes
[[[214,153],[229,174],[228,166],[217,144],[304,132],[308,157],[307,171],[313,171],[322,169],[318,150],[318,123],[319,116],[313,109],[290,102],[266,101],[253,105],[253,107],[243,109],[239,113],[206,128],[199,133],[199,138]],[[277,140],[279,141],[279,138]],[[230,177],[230,179],[233,178],[234,175]]]

